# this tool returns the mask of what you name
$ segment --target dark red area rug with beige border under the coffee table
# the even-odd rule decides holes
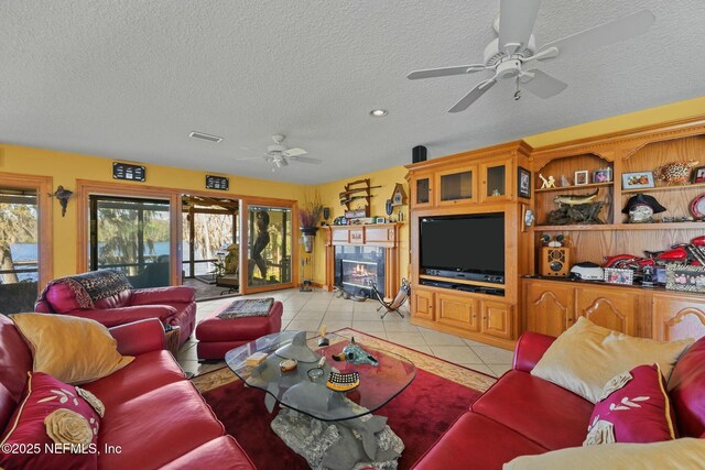
[[[416,365],[414,381],[386,406],[377,411],[387,416],[405,449],[399,468],[408,469],[436,441],[495,379],[480,372],[413,351],[352,329],[338,335],[355,335],[356,341],[406,357]],[[264,407],[264,392],[242,385],[226,368],[198,378],[194,383],[216,416],[225,424],[259,470],[307,469],[306,460],[291,450],[271,430]],[[224,382],[227,382],[223,384]]]

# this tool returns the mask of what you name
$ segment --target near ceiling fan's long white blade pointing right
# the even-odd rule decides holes
[[[538,58],[539,61],[545,61],[557,55],[592,51],[597,47],[628,40],[646,33],[654,21],[655,17],[651,11],[641,10],[630,15],[622,17],[615,21],[610,21],[549,43],[541,47],[538,54],[541,54],[542,51],[551,47],[557,48],[557,54]]]

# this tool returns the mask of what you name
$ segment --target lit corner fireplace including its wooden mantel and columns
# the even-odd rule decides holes
[[[326,278],[323,287],[335,287],[370,295],[369,282],[377,284],[383,297],[399,291],[400,223],[324,227]]]

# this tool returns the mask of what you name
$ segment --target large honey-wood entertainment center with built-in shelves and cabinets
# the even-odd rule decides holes
[[[409,165],[411,321],[508,349],[527,329],[555,336],[578,316],[646,338],[705,335],[705,294],[538,276],[544,234],[565,237],[571,265],[601,265],[608,255],[641,256],[646,250],[665,250],[705,236],[702,221],[628,223],[622,214],[628,199],[643,193],[668,209],[659,216],[690,216],[691,203],[705,194],[705,183],[669,186],[657,181],[652,188],[622,189],[622,175],[691,160],[705,166],[705,117],[541,149],[517,141]],[[531,172],[530,198],[518,195],[520,167]],[[611,181],[593,183],[593,172],[605,168],[611,170]],[[541,189],[539,174],[553,176],[560,185],[562,176],[574,182],[579,171],[588,172],[587,184]],[[557,208],[556,196],[595,190],[595,200],[605,203],[598,214],[604,223],[546,223],[549,212]],[[524,225],[528,209],[535,215],[533,227]],[[505,214],[503,296],[447,286],[496,288],[496,283],[420,272],[421,218],[484,212]],[[441,286],[429,285],[434,283]]]

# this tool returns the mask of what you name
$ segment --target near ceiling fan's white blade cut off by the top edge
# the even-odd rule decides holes
[[[513,54],[529,44],[541,0],[501,0],[499,3],[499,50]]]

